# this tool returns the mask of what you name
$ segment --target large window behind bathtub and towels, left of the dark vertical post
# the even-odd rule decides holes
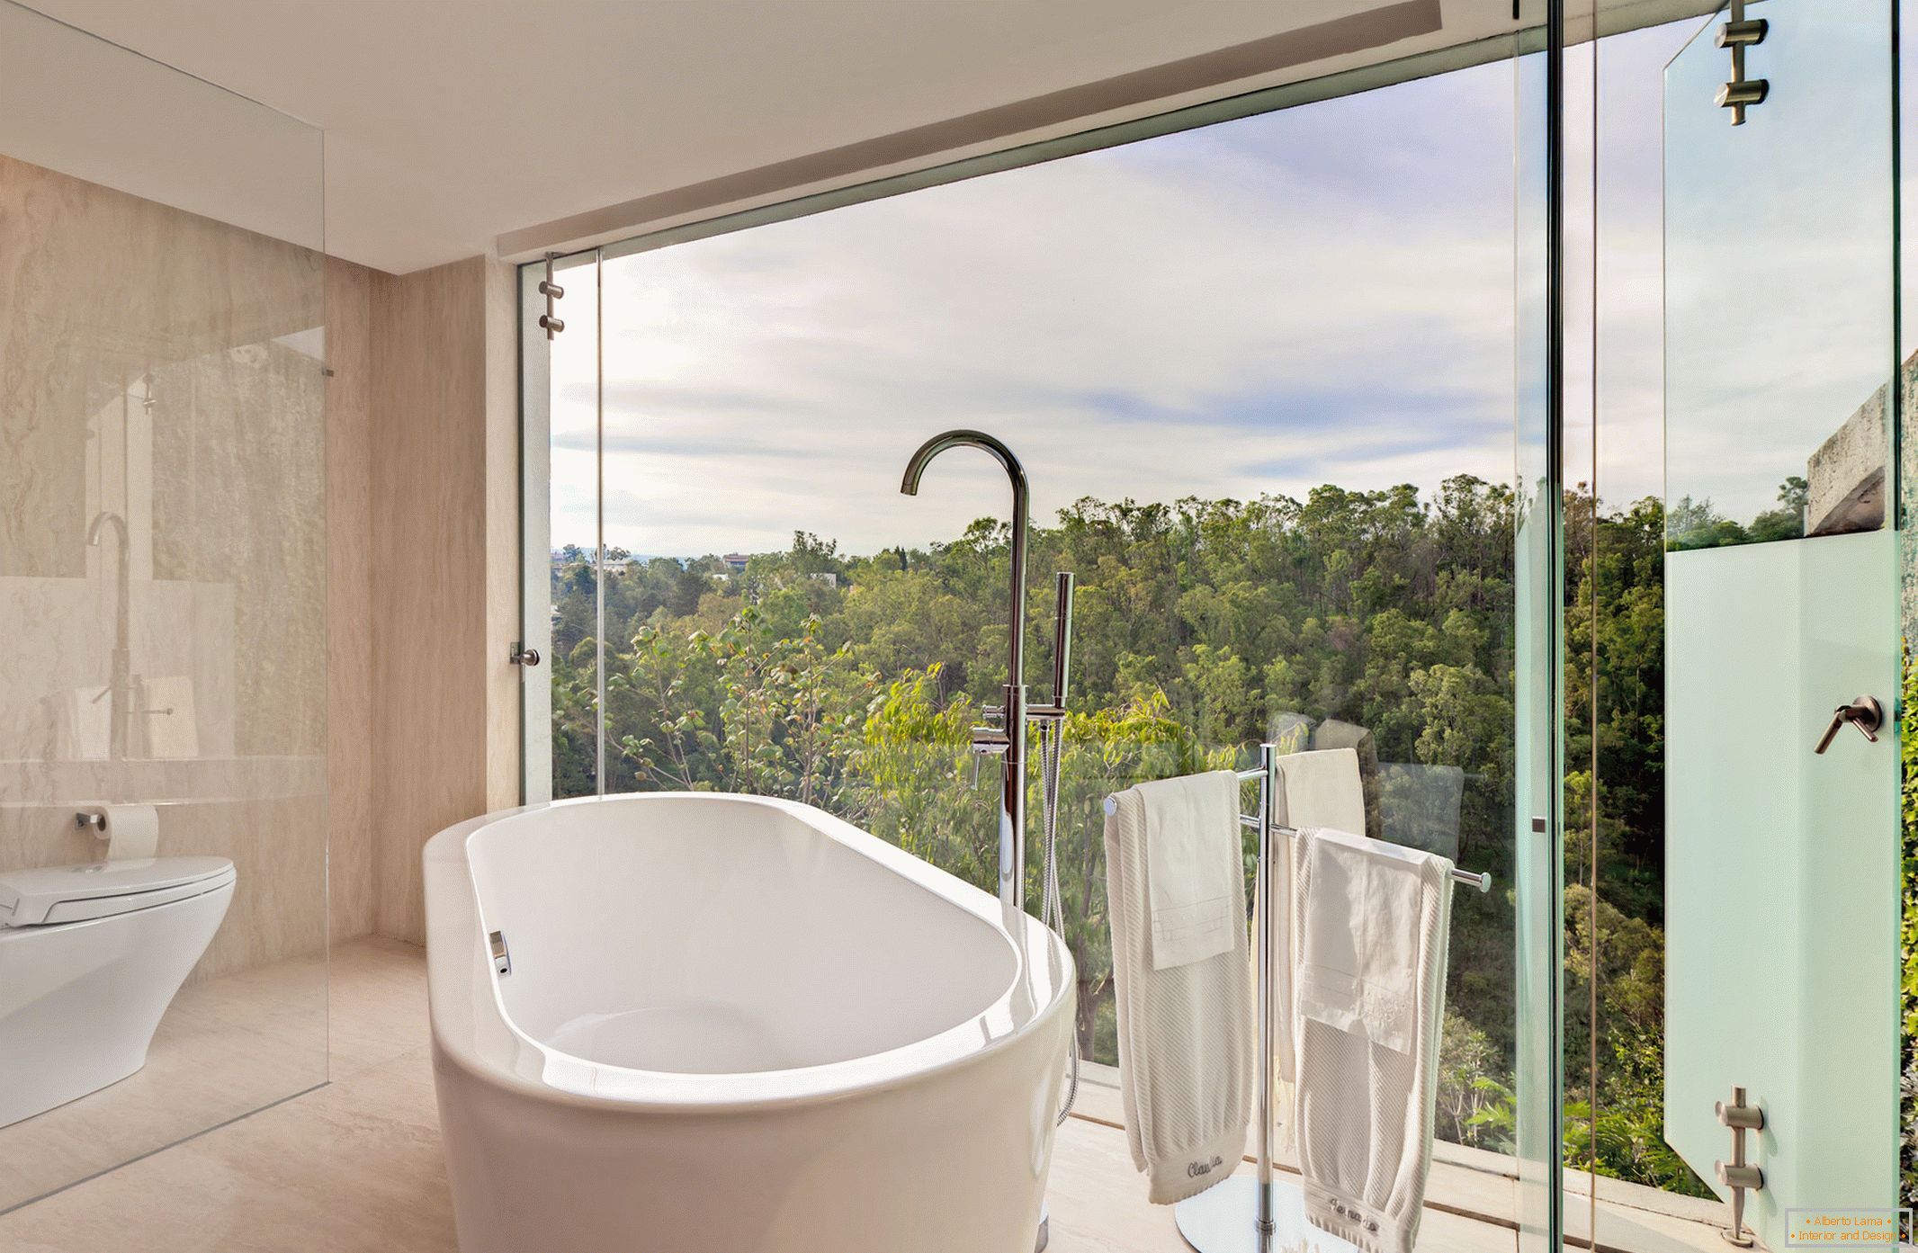
[[[961,453],[917,497],[900,474],[926,436],[992,432],[1034,491],[1034,698],[1053,574],[1078,579],[1084,1053],[1116,1063],[1101,798],[1262,741],[1350,746],[1369,835],[1500,885],[1454,902],[1437,1134],[1509,1157],[1540,1099],[1515,583],[1521,376],[1544,378],[1519,186],[1542,75],[1515,50],[560,259],[566,330],[529,370],[552,796],[790,796],[990,887],[997,768],[967,737],[1007,679],[1005,478]]]

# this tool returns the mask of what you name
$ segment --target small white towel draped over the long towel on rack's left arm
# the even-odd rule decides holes
[[[1145,802],[1145,904],[1155,971],[1245,948],[1239,777],[1212,771],[1132,789]]]

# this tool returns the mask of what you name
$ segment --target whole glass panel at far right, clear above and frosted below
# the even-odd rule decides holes
[[[1766,23],[1742,65],[1715,19],[1665,71],[1665,1132],[1728,1195],[1715,1107],[1763,1109],[1745,1218],[1780,1247],[1793,1209],[1897,1195],[1899,754],[1832,714],[1897,704],[1895,23],[1742,15]],[[1728,125],[1722,84],[1757,79]],[[1763,944],[1724,942],[1726,875]],[[1732,1025],[1742,986],[1770,1030]]]

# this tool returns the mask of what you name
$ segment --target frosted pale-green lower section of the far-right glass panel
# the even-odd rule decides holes
[[[1774,1249],[1788,1207],[1895,1203],[1897,746],[1813,752],[1836,704],[1893,704],[1895,562],[1872,532],[1665,564],[1665,1132],[1711,1180],[1713,1103],[1747,1088]]]

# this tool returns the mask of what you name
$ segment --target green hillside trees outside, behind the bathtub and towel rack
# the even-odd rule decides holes
[[[1602,814],[1596,833],[1575,825],[1567,840],[1588,852],[1596,839],[1605,867],[1600,885],[1567,890],[1567,1004],[1598,944],[1600,1015],[1577,1023],[1579,1046],[1590,1050],[1596,1030],[1613,1057],[1600,1117],[1569,1117],[1567,1130],[1582,1128],[1580,1153],[1602,1170],[1684,1190],[1696,1180],[1661,1155],[1657,1134],[1665,518],[1655,501],[1598,516],[1573,499],[1567,512],[1582,516],[1567,645],[1603,658],[1592,685],[1567,685],[1571,760],[1596,746],[1600,766],[1596,794],[1590,771],[1573,777],[1567,812],[1596,798]],[[1722,522],[1709,505],[1694,512]],[[1515,528],[1511,491],[1469,476],[1431,499],[1331,485],[1304,501],[1082,499],[1034,528],[1034,675],[1051,662],[1051,570],[1078,574],[1059,863],[1086,1055],[1116,1059],[1101,800],[1130,783],[1247,766],[1285,725],[1343,720],[1371,731],[1383,762],[1462,771],[1458,856],[1511,883]],[[997,766],[971,752],[969,731],[1003,698],[1005,568],[1007,528],[994,520],[930,551],[871,556],[802,532],[744,570],[710,556],[635,560],[604,581],[600,606],[591,555],[562,551],[556,794],[595,791],[602,620],[606,791],[806,800],[990,888]],[[1034,842],[1038,773],[1034,752]],[[1249,833],[1249,875],[1252,844]],[[1028,873],[1036,900],[1038,856]],[[1462,894],[1454,910],[1438,1130],[1509,1149],[1511,896]]]

